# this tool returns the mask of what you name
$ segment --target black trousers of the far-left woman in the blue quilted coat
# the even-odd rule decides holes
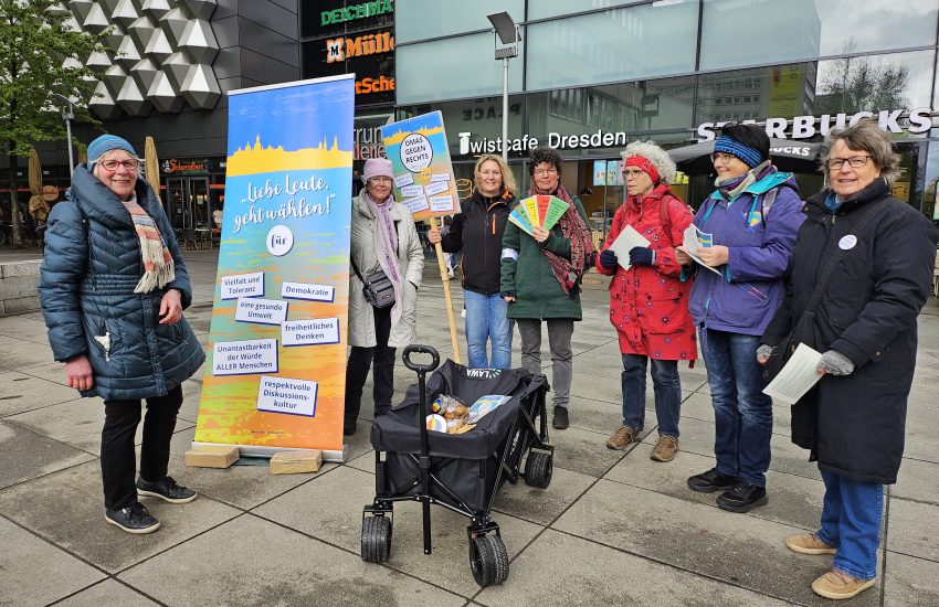
[[[147,398],[144,444],[140,447],[140,478],[158,481],[167,476],[169,443],[181,405],[182,386],[176,386],[166,396]],[[104,504],[112,510],[126,508],[137,501],[134,435],[140,423],[140,408],[139,398],[104,402],[101,473]]]

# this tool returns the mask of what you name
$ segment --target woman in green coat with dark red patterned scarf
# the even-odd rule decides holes
[[[557,196],[569,207],[551,230],[535,227],[531,235],[506,224],[500,290],[509,302],[508,318],[518,322],[521,366],[531,373],[541,373],[541,321],[548,326],[555,392],[551,425],[565,429],[570,422],[571,336],[573,322],[581,319],[580,278],[593,263],[593,239],[583,205],[560,183],[560,155],[551,148],[532,150],[528,172],[529,195]]]

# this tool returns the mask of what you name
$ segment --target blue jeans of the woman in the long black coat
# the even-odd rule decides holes
[[[837,549],[832,566],[858,579],[873,579],[877,575],[884,486],[858,482],[825,470],[822,480],[825,501],[817,536]]]

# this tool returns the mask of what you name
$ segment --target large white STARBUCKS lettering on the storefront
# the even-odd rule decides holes
[[[857,114],[822,114],[815,116],[795,116],[791,120],[787,118],[767,118],[766,130],[770,137],[778,139],[808,139],[815,135],[825,136],[832,129],[853,127],[862,118],[877,118],[880,128],[889,132],[909,132],[919,135],[932,128],[932,108],[917,107],[906,109],[882,109],[877,113],[858,111]],[[900,125],[899,120],[906,118],[909,125]],[[757,120],[742,120],[745,125],[753,125]],[[727,123],[701,123],[697,127],[698,141],[710,141],[714,139],[716,129]],[[815,125],[819,125],[817,128]]]

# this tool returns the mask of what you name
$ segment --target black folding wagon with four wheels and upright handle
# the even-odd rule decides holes
[[[414,354],[429,354],[421,364]],[[362,560],[388,561],[394,502],[419,501],[423,507],[424,554],[431,554],[431,504],[470,519],[470,566],[481,586],[508,577],[508,553],[499,525],[489,518],[496,491],[505,481],[524,478],[531,487],[551,482],[553,447],[548,444],[544,375],[523,369],[467,369],[429,345],[404,349],[404,365],[416,372],[418,384],[400,406],[372,423],[376,497],[362,512]],[[425,375],[434,372],[430,382]],[[429,403],[437,395],[456,396],[472,405],[484,395],[510,396],[465,434],[429,432]],[[527,456],[527,457],[526,457]],[[520,472],[523,460],[525,471]]]

